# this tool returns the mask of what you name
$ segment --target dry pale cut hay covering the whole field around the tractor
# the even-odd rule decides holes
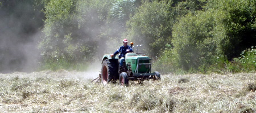
[[[93,84],[94,77],[65,70],[0,74],[0,111],[256,112],[256,73],[162,75],[128,87]]]

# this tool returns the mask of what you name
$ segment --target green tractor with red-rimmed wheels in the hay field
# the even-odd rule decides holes
[[[131,42],[133,47],[133,42]],[[125,55],[125,63],[123,63],[122,71],[119,71],[118,56],[111,56],[105,54],[101,62],[101,72],[99,80],[105,85],[109,82],[116,82],[119,80],[121,85],[129,85],[129,81],[138,81],[141,83],[144,80],[160,80],[160,73],[151,72],[151,59],[145,54],[127,53]],[[134,47],[133,47],[134,48]]]

